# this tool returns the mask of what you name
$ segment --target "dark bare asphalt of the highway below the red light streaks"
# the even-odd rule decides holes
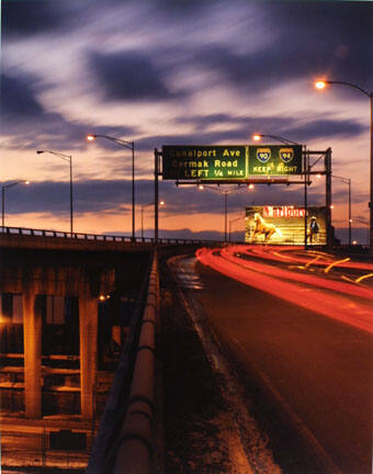
[[[194,271],[194,260],[180,266]],[[282,407],[325,471],[371,473],[372,335],[195,269],[201,283],[193,297],[217,339]]]

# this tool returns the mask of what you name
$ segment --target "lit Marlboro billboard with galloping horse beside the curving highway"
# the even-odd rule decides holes
[[[249,244],[304,245],[305,208],[294,205],[246,207],[245,241]],[[326,245],[326,207],[307,207],[307,244]]]

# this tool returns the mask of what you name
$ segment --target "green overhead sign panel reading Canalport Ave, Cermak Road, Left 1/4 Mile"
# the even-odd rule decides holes
[[[247,176],[245,145],[176,145],[162,147],[165,180],[245,179]]]

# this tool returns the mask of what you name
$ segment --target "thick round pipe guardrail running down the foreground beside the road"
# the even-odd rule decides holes
[[[140,292],[143,304],[138,304],[133,317],[86,474],[150,473],[155,332],[159,307],[157,252],[150,275],[146,278],[147,286],[144,282]]]

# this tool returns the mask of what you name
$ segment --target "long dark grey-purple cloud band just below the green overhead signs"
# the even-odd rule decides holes
[[[197,215],[204,213],[221,214],[224,210],[222,190],[228,189],[229,213],[244,210],[246,205],[264,205],[276,203],[303,204],[302,187],[256,185],[248,192],[247,187],[214,187],[199,190],[196,185],[180,185],[174,182],[160,181],[159,199],[165,200],[165,212],[168,215]],[[30,185],[18,185],[16,190],[7,193],[7,213],[45,213],[55,215],[69,214],[69,182],[39,181]],[[309,204],[323,204],[323,193],[314,193]],[[154,202],[154,181],[136,180],[137,211],[144,204]],[[188,204],[185,204],[188,203]],[[132,205],[132,180],[86,180],[74,182],[74,208],[76,213],[104,213]]]

